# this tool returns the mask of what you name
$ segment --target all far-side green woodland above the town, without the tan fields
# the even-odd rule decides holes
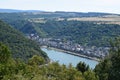
[[[84,13],[81,15],[90,16],[91,14],[98,15],[98,13]],[[70,14],[64,12],[50,14],[1,13],[0,19],[24,34],[37,33],[41,37],[61,38],[88,46],[110,46],[110,38],[120,35],[120,25],[117,24],[97,24],[96,21],[56,21],[56,18],[68,17],[68,15]],[[46,22],[35,23],[31,21],[31,19],[39,18],[43,18]]]

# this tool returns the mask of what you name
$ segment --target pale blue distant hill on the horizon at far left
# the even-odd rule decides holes
[[[43,11],[40,11],[40,10],[0,9],[0,13],[19,13],[19,12],[43,12]]]

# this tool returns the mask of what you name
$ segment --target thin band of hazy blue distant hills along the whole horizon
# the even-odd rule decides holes
[[[22,12],[32,12],[40,13],[44,15],[55,15],[56,17],[99,17],[104,15],[113,15],[113,13],[102,13],[102,12],[65,12],[65,11],[42,11],[42,10],[17,10],[17,9],[0,9],[0,13],[22,13]],[[67,15],[66,15],[67,14]]]

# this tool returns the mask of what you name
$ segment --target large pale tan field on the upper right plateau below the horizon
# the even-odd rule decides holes
[[[117,15],[107,15],[103,17],[81,17],[81,18],[68,18],[68,21],[76,20],[76,21],[93,21],[98,24],[120,24],[120,16]]]

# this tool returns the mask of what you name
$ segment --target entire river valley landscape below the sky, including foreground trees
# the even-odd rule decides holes
[[[119,23],[112,13],[2,10],[0,80],[119,80]]]

